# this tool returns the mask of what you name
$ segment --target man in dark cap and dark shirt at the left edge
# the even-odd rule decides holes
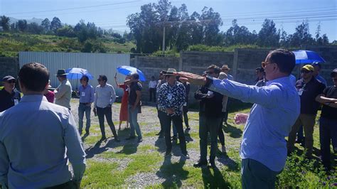
[[[0,90],[0,112],[13,107],[20,101],[21,95],[20,92],[15,89],[15,82],[16,79],[11,75],[2,78],[4,89]]]

